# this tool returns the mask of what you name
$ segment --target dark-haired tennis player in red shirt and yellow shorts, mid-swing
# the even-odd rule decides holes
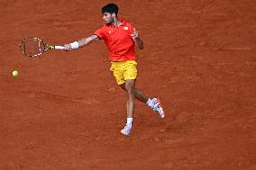
[[[104,40],[109,50],[108,58],[111,61],[110,70],[113,72],[117,85],[127,92],[127,122],[121,133],[129,136],[133,125],[134,99],[146,103],[160,118],[165,117],[159,98],[149,98],[139,89],[135,88],[137,77],[137,62],[134,44],[143,49],[143,41],[133,25],[117,17],[118,6],[106,4],[102,7],[105,24],[96,30],[93,35],[65,44],[65,50],[78,49],[96,40]]]

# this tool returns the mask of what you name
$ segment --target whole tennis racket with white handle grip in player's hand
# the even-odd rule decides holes
[[[21,41],[20,49],[23,55],[33,58],[40,56],[42,53],[48,51],[49,49],[64,49],[63,46],[52,46],[43,42],[41,39],[36,37],[28,37]]]

